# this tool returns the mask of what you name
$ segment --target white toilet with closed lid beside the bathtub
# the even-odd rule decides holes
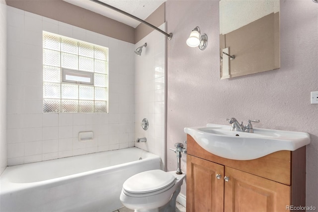
[[[185,173],[150,170],[128,178],[120,201],[135,212],[175,212],[175,203]]]

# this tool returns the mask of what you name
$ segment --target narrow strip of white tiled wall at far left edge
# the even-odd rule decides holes
[[[6,141],[6,5],[0,0],[0,174],[7,165]]]

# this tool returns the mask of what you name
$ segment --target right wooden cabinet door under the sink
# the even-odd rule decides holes
[[[224,187],[225,212],[286,212],[290,187],[230,167]]]

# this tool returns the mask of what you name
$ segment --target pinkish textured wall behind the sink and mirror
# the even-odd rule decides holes
[[[219,0],[168,0],[166,21],[173,33],[167,41],[167,148],[185,140],[184,127],[227,124],[227,117],[308,132],[307,206],[317,208],[318,105],[310,104],[310,92],[318,91],[318,3],[281,0],[281,68],[230,80],[220,80]],[[204,51],[185,43],[197,25],[208,35]],[[167,158],[168,170],[175,170],[175,154],[167,150]],[[182,166],[185,171],[185,157]]]

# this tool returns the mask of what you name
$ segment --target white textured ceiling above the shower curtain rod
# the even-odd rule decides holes
[[[136,28],[140,22],[90,0],[64,0]],[[145,20],[166,0],[100,0]]]

